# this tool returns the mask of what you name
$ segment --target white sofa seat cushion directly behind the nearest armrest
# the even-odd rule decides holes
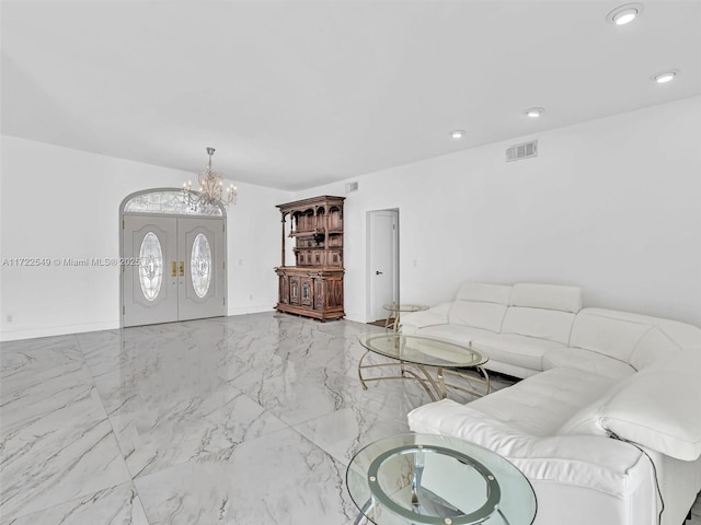
[[[547,436],[612,384],[612,380],[596,374],[554,369],[476,399],[469,407],[519,432]]]

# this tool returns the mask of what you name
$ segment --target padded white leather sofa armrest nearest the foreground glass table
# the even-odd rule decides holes
[[[651,476],[635,446],[600,435],[535,436],[450,399],[409,413],[414,432],[459,438],[506,457],[531,481],[586,487],[621,498]]]

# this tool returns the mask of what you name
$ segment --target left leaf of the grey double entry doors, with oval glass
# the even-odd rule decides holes
[[[176,320],[177,219],[124,215],[122,232],[124,326]]]

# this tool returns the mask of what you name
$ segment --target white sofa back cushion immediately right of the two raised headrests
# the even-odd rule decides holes
[[[653,326],[617,317],[616,312],[585,308],[572,327],[570,347],[591,350],[630,362],[633,351]]]

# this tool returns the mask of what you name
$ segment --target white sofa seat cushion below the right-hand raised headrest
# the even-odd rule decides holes
[[[517,334],[484,334],[472,339],[474,349],[490,359],[525,369],[541,371],[542,357],[550,350],[565,348],[564,345]],[[485,368],[490,368],[487,362]]]

